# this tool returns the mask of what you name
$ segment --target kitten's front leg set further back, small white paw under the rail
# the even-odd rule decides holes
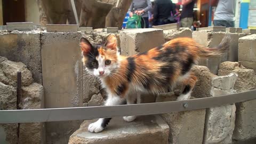
[[[125,98],[126,99],[126,102],[127,102],[127,105],[130,105],[130,104],[134,104],[136,103],[137,101],[137,96],[138,94],[140,94],[139,92],[130,92],[127,97]],[[132,122],[134,121],[134,119],[136,119],[137,116],[124,116],[124,121],[126,122]]]

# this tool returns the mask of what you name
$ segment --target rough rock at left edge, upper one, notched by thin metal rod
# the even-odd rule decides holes
[[[6,77],[3,78],[5,80],[4,82],[8,85],[14,85],[13,82],[17,81],[18,71],[21,71],[22,75],[21,85],[28,86],[34,81],[31,72],[27,69],[27,66],[24,65],[22,62],[4,60],[0,63],[0,67],[2,68],[3,74],[10,79],[9,81],[7,81]]]

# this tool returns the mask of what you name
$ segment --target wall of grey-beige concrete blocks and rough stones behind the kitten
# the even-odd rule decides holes
[[[197,42],[207,47],[218,46],[221,39],[226,35],[231,35],[232,38],[230,51],[226,55],[219,59],[208,59],[199,62],[199,64],[201,63],[208,68],[204,66],[194,66],[192,68],[192,71],[198,77],[198,82],[191,94],[192,99],[215,97],[222,94],[256,89],[254,70],[246,69],[253,67],[250,67],[250,65],[243,67],[241,65],[243,62],[254,62],[254,47],[251,47],[255,41],[254,36],[243,37],[245,34],[231,34],[211,30],[194,31],[192,33],[191,30],[186,28],[172,30],[132,29],[115,33],[118,39],[119,51],[123,55],[144,52],[173,38],[192,37],[192,34]],[[23,70],[22,72],[24,74],[24,77],[22,77],[22,95],[24,95],[22,97],[22,109],[43,108],[44,97],[41,97],[43,94],[45,94],[45,106],[47,108],[102,105],[106,99],[106,93],[102,90],[98,79],[93,79],[93,77],[86,74],[78,44],[81,36],[86,37],[93,44],[101,44],[105,43],[108,35],[109,33],[102,31],[65,33],[49,33],[36,30],[1,31],[0,55],[6,56],[15,62],[10,62],[0,57],[0,63],[2,63],[0,65],[0,108],[17,109],[15,90],[17,77],[15,77],[15,71],[26,69],[25,65],[31,72],[29,70]],[[246,58],[246,55],[250,57]],[[221,63],[227,60],[241,60],[241,63]],[[25,63],[25,65],[17,63],[18,61]],[[218,66],[219,63],[221,63],[220,66]],[[215,75],[217,73],[218,76]],[[39,84],[43,83],[44,90],[42,85],[34,83],[33,79]],[[158,95],[145,93],[139,95],[138,102],[173,101],[176,100],[178,95],[178,92]],[[129,135],[129,139],[132,139],[131,142],[147,141],[148,139],[150,140],[147,141],[148,143],[154,140],[149,139],[152,135],[155,136],[154,138],[159,143],[167,143],[167,141],[169,143],[250,143],[256,139],[254,105],[256,105],[255,100],[251,100],[236,103],[236,105],[231,104],[209,109],[162,114],[160,118],[157,118],[157,122],[154,117],[149,118],[150,121],[147,119],[146,123],[140,121],[144,118],[139,118],[139,121],[134,123],[125,123],[126,127],[138,124],[138,127],[129,129],[131,131],[126,136]],[[161,121],[161,124],[159,124],[159,121]],[[119,123],[120,121],[116,122]],[[84,122],[81,128],[76,131],[81,123],[82,121],[47,123],[46,142],[67,143],[69,141],[74,143],[81,137],[83,137],[83,140],[88,137],[95,138],[90,140],[92,143],[99,140],[96,137],[97,135],[86,133],[88,122]],[[143,124],[146,126],[144,125],[143,127]],[[114,128],[109,130],[113,132],[113,135],[118,136],[119,142],[129,143],[125,139],[125,134],[117,135],[115,133],[115,129],[118,129],[118,124],[111,125]],[[141,129],[139,125],[142,127]],[[123,130],[126,130],[121,125],[119,126],[120,131],[124,132]],[[149,127],[151,131],[144,131]],[[156,129],[156,127],[160,128]],[[20,130],[19,133],[18,129]],[[137,129],[141,130],[142,133],[140,135],[132,135],[133,130]],[[3,137],[0,137],[0,143],[2,141],[8,141],[9,143],[17,143],[18,141],[21,143],[38,143],[44,140],[44,137],[40,135],[42,131],[41,123],[2,124],[0,125],[0,135],[4,132],[4,140],[2,140]],[[73,132],[75,133],[73,134]],[[149,136],[150,134],[151,136]],[[69,140],[70,135],[73,136]],[[28,137],[31,139],[27,139]],[[105,139],[100,139],[99,141],[102,143]],[[112,138],[108,139],[109,143],[113,143],[113,141],[114,139]]]

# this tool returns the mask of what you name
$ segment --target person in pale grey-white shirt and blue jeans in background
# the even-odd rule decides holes
[[[212,0],[211,6],[217,6],[213,18],[214,26],[235,27],[234,16],[236,1]]]

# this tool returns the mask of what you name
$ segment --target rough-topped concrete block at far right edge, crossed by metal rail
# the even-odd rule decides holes
[[[256,75],[252,69],[245,69],[238,62],[220,64],[219,75],[234,72],[238,75],[234,89],[244,92],[256,89]],[[236,103],[236,121],[233,143],[255,143],[256,140],[256,100]]]

